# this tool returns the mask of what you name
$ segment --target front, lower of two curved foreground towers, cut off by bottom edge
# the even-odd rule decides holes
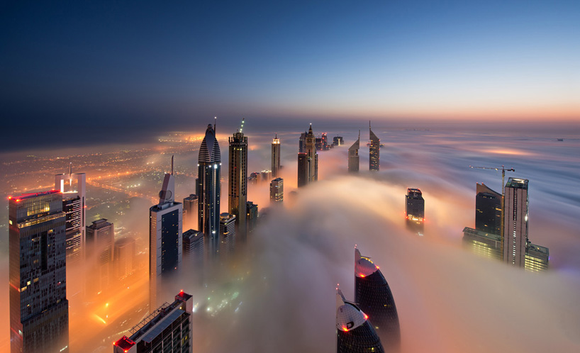
[[[371,319],[372,320],[372,319]],[[381,339],[374,330],[369,316],[355,304],[345,299],[336,289],[336,352],[384,353]]]

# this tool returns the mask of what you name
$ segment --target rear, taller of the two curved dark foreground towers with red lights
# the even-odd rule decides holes
[[[383,342],[388,342],[387,350],[396,351],[401,331],[393,293],[379,267],[369,257],[361,256],[358,249],[355,249],[355,302],[369,315]]]

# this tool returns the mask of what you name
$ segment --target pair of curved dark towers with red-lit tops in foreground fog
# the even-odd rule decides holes
[[[355,248],[355,301],[336,293],[337,353],[398,352],[401,330],[391,288],[379,267]]]

